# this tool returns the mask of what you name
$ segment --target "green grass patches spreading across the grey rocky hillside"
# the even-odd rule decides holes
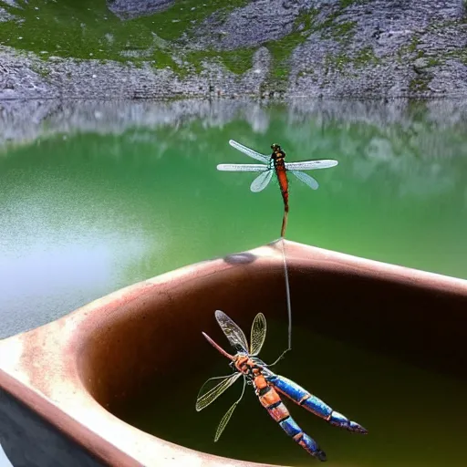
[[[339,16],[349,5],[367,2],[340,0],[340,8],[320,23],[316,21],[317,10],[303,13],[296,18],[289,35],[258,44],[257,47],[267,47],[273,58],[270,81],[275,85],[285,83],[289,73],[288,58],[313,32],[345,46],[356,25],[339,21]],[[16,20],[1,24],[0,44],[35,52],[44,59],[51,56],[93,58],[136,66],[149,62],[153,67],[171,67],[184,75],[188,69],[200,71],[202,59],[207,58],[220,61],[240,74],[252,66],[257,49],[187,51],[180,44],[183,35],[190,36],[190,32],[213,13],[227,16],[229,11],[246,5],[248,0],[204,0],[204,3],[202,0],[176,0],[175,5],[165,11],[128,21],[114,16],[105,0],[16,0],[16,3],[17,6],[11,6],[0,0],[0,6],[16,16]],[[461,52],[458,55],[462,55]],[[365,67],[378,61],[372,48],[367,47],[355,57],[348,57],[345,52],[330,55],[327,66],[340,71],[348,63]]]

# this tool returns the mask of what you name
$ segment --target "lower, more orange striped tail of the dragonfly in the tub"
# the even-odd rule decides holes
[[[290,416],[277,391],[267,384],[262,374],[254,378],[254,388],[265,410],[279,423],[281,428],[311,455],[317,457],[320,461],[326,461],[326,453],[319,449],[315,440],[300,429],[296,421]]]

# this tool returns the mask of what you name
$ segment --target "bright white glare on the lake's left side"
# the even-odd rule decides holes
[[[146,251],[148,239],[137,230],[129,237],[90,218],[77,225],[47,204],[23,199],[10,202],[2,214],[0,303],[2,327],[9,334],[45,324],[59,308],[65,313],[86,303],[89,294],[105,294],[105,284],[125,285],[119,270]]]

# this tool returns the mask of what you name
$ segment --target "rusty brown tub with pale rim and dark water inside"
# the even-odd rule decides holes
[[[251,387],[216,443],[241,383],[194,409],[202,382],[231,372],[202,337],[232,350],[216,309],[247,337],[254,316],[265,314],[266,362],[286,348],[281,248],[186,266],[5,339],[3,389],[25,403],[34,393],[28,407],[102,463],[318,462],[285,435]],[[368,429],[367,436],[340,430],[285,400],[327,464],[467,465],[467,281],[288,241],[285,254],[292,351],[275,371]]]

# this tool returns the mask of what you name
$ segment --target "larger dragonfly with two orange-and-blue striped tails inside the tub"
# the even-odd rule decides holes
[[[263,360],[258,358],[258,354],[265,342],[266,335],[266,320],[263,313],[258,313],[256,317],[254,317],[249,347],[244,332],[236,323],[233,322],[233,319],[228,317],[221,310],[217,310],[214,316],[217,323],[223,330],[223,334],[227,337],[230,345],[235,349],[236,353],[234,355],[229,354],[221,346],[216,344],[207,334],[202,333],[202,335],[213,346],[213,348],[216,348],[223,355],[223,357],[231,360],[230,366],[233,368],[234,372],[228,376],[208,379],[202,385],[202,388],[198,393],[196,410],[200,411],[206,408],[221,396],[226,389],[230,388],[238,379],[243,379],[244,381],[242,394],[223,416],[223,419],[219,423],[217,431],[215,432],[214,441],[219,440],[225,426],[232,417],[233,410],[235,410],[235,407],[244,397],[244,389],[247,384],[254,387],[254,392],[261,405],[265,407],[265,410],[267,410],[269,415],[271,415],[271,417],[280,425],[285,433],[309,454],[320,461],[326,461],[326,453],[319,448],[317,441],[308,436],[296,424],[296,421],[290,416],[284,402],[281,400],[280,395],[293,400],[304,409],[309,410],[324,420],[327,420],[331,425],[357,433],[368,433],[368,431],[356,421],[348,420],[347,417],[338,413],[336,410],[333,410],[326,402],[310,394],[306,389],[303,389],[291,379],[286,379],[285,377],[276,375],[271,371],[270,368],[273,367],[278,360],[271,365],[266,365]],[[218,379],[220,379],[220,382],[213,386],[212,381]]]

